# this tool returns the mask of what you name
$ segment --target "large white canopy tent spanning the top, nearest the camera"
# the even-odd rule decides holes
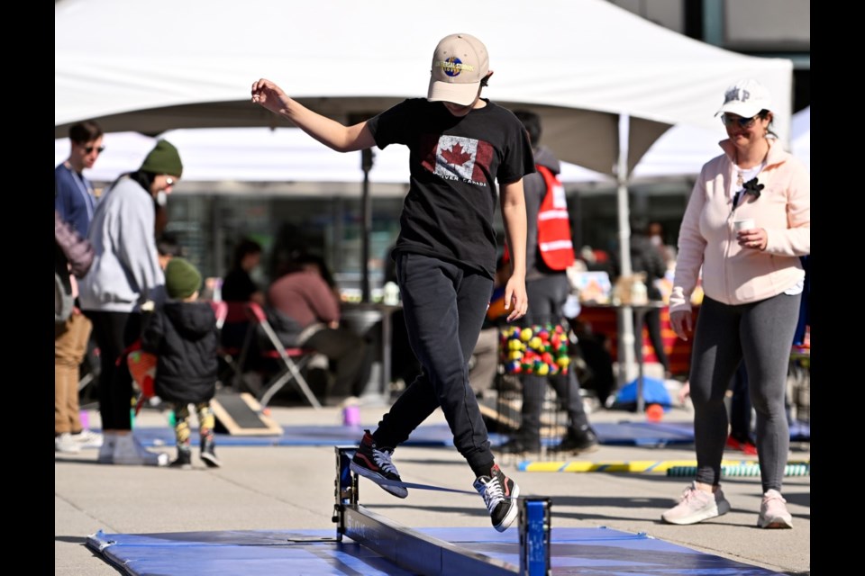
[[[75,121],[159,134],[194,127],[276,126],[250,103],[260,76],[341,121],[421,96],[446,34],[487,44],[485,94],[540,112],[560,159],[619,182],[619,239],[628,246],[626,184],[672,125],[711,128],[724,89],[753,77],[774,95],[788,139],[792,64],[686,37],[603,0],[59,0],[54,9],[55,138]],[[82,41],[82,31],[98,31]],[[369,206],[369,173],[364,204]],[[365,210],[367,221],[369,210]],[[630,256],[622,251],[622,269]],[[623,346],[632,365],[633,332]]]

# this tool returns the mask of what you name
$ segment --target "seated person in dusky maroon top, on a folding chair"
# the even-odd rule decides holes
[[[286,347],[327,356],[333,384],[326,403],[360,396],[369,383],[372,350],[340,326],[340,301],[321,275],[318,260],[298,257],[268,290],[269,321]]]

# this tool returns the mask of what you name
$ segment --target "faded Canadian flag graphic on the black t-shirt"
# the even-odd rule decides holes
[[[444,178],[460,178],[486,185],[485,172],[493,157],[493,147],[483,140],[461,136],[440,136],[430,139],[432,146],[425,154],[423,166]]]

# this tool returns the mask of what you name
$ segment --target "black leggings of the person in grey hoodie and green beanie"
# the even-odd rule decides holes
[[[99,417],[104,430],[131,430],[132,375],[123,351],[141,338],[141,314],[134,312],[85,311],[93,322],[93,333],[99,345]]]

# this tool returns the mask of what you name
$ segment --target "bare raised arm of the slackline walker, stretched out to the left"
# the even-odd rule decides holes
[[[340,122],[297,103],[288,97],[282,88],[265,78],[252,83],[252,102],[286,118],[297,128],[337,152],[372,148],[376,144],[365,121],[353,126],[343,126]]]

